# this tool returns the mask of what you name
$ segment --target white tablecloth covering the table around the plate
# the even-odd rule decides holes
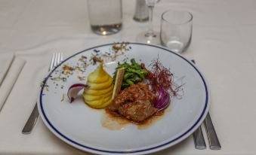
[[[134,0],[123,0],[122,31],[99,36],[91,32],[85,0],[0,0],[0,56],[10,52],[26,60],[0,112],[0,154],[88,154],[55,137],[41,119],[30,135],[21,130],[51,53],[70,56],[97,44],[135,41],[147,23],[132,20],[134,8]],[[162,0],[156,5],[156,30],[165,10],[193,14],[193,38],[184,56],[196,59],[208,81],[209,111],[222,149],[196,150],[190,136],[155,154],[256,154],[255,8],[254,0]]]

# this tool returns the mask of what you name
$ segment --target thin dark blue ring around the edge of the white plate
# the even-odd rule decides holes
[[[56,68],[54,68],[49,74],[48,76],[45,78],[45,81],[43,83],[43,86],[42,86],[42,89],[40,91],[40,94],[39,94],[39,106],[40,106],[40,110],[42,112],[42,117],[44,117],[44,119],[46,120],[46,122],[48,123],[49,126],[51,126],[51,129],[56,132],[57,135],[60,136],[60,138],[63,138],[65,139],[66,141],[69,141],[70,143],[72,144],[76,144],[77,146],[79,147],[83,147],[85,149],[88,149],[88,150],[91,150],[91,151],[96,151],[97,153],[119,153],[119,154],[122,154],[122,153],[145,153],[149,150],[154,150],[154,149],[159,149],[161,147],[166,147],[168,146],[168,144],[171,144],[171,143],[174,143],[175,141],[179,140],[180,138],[182,138],[184,135],[187,135],[187,133],[191,132],[192,129],[194,129],[195,126],[198,126],[198,123],[200,121],[202,121],[202,119],[205,117],[205,112],[208,108],[208,87],[207,87],[207,84],[205,82],[205,79],[203,78],[201,72],[195,67],[195,65],[193,65],[192,62],[190,62],[189,60],[185,59],[183,56],[180,56],[179,54],[171,51],[171,50],[168,50],[164,47],[159,47],[159,46],[155,46],[155,45],[152,45],[152,44],[141,44],[141,43],[131,43],[131,42],[128,42],[128,44],[140,44],[140,45],[147,45],[147,46],[151,46],[151,47],[156,47],[156,48],[159,48],[159,49],[162,49],[162,50],[166,50],[170,53],[173,53],[174,55],[177,55],[179,56],[180,58],[184,59],[186,62],[188,62],[191,66],[193,66],[193,68],[197,71],[197,73],[199,74],[200,78],[202,79],[202,82],[204,84],[204,87],[205,87],[205,103],[204,103],[204,108],[203,108],[203,111],[202,113],[200,114],[199,118],[196,120],[196,122],[193,124],[193,126],[191,126],[189,129],[187,129],[186,132],[182,133],[181,135],[179,135],[177,138],[174,138],[174,139],[171,139],[170,141],[168,142],[165,142],[164,144],[159,144],[155,147],[149,147],[149,148],[146,148],[146,149],[141,149],[141,150],[124,150],[124,151],[116,151],[116,150],[101,150],[101,149],[97,149],[97,148],[94,148],[94,147],[88,147],[88,146],[85,146],[84,144],[79,144],[78,142],[76,141],[73,141],[71,138],[68,138],[66,137],[66,135],[63,135],[63,133],[61,133],[59,130],[57,130],[53,123],[51,123],[51,121],[48,119],[47,115],[45,114],[45,110],[44,110],[44,106],[42,104],[42,96],[43,96],[43,90],[44,90],[44,87],[45,87],[45,83],[46,81],[48,81],[48,78],[50,78],[51,76],[51,73],[55,71],[56,68],[58,68],[58,66],[60,66],[61,64],[63,64],[64,62],[66,62],[66,60],[72,58],[73,56],[76,56],[78,55],[79,53],[84,53],[85,51],[88,51],[88,50],[91,50],[91,49],[94,49],[94,48],[97,48],[97,47],[103,47],[103,46],[109,46],[109,45],[112,45],[112,44],[103,44],[103,45],[100,45],[100,46],[97,46],[97,47],[91,47],[91,48],[88,48],[86,50],[82,50],[81,52],[79,53],[76,53],[76,54],[73,54],[72,56],[69,56],[69,58],[63,60],[63,62],[61,62],[59,65],[57,65]],[[94,152],[95,153],[95,152]]]

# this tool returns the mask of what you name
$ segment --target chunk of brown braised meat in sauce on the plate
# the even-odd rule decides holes
[[[122,90],[108,109],[129,120],[141,122],[156,113],[157,109],[153,106],[153,99],[154,95],[147,84],[133,84]]]

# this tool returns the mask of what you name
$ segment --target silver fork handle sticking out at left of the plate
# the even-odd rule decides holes
[[[39,109],[37,108],[37,104],[35,103],[35,107],[29,116],[29,120],[26,121],[26,124],[22,130],[22,133],[29,134],[32,131],[33,127],[35,126],[36,120],[38,118],[39,118]]]

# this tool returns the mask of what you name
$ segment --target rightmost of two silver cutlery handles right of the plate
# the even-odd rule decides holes
[[[205,129],[208,135],[208,141],[211,150],[221,150],[221,144],[217,138],[213,123],[211,122],[210,114],[208,113],[205,117]]]

